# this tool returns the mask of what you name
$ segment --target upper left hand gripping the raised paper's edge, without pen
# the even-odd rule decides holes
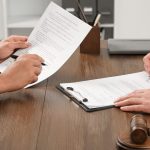
[[[27,42],[26,36],[10,36],[6,40],[0,42],[0,62],[8,58],[18,48],[28,48],[30,44]]]

